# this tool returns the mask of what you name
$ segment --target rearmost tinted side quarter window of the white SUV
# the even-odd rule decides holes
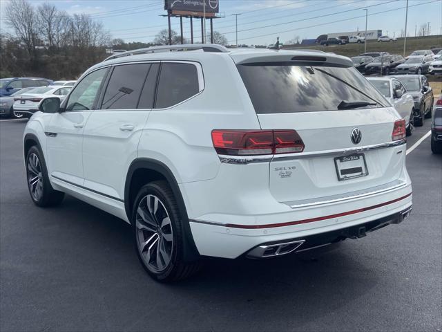
[[[162,64],[155,109],[178,104],[200,91],[193,64]]]

